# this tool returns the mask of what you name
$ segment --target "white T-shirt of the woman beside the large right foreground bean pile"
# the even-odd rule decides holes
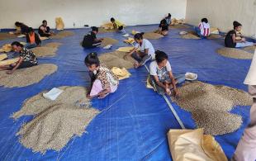
[[[164,70],[164,68],[166,70]],[[169,63],[169,61],[167,61],[166,66],[162,67],[162,69],[159,69],[159,65],[156,63],[156,61],[154,60],[153,62],[150,63],[149,65],[149,70],[150,70],[150,75],[154,75],[154,76],[158,76],[159,78],[162,78],[162,76],[164,74],[166,74],[165,72],[170,72],[172,71],[172,67],[171,64]]]

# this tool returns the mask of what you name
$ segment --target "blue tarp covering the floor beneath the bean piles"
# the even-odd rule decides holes
[[[157,27],[129,26],[126,31],[153,31]],[[23,116],[17,121],[9,116],[21,109],[26,98],[64,85],[87,86],[89,78],[88,69],[83,64],[84,57],[91,51],[102,54],[126,45],[121,34],[104,33],[97,37],[113,37],[119,40],[119,44],[111,50],[83,50],[79,42],[88,29],[73,31],[75,36],[44,41],[63,43],[55,57],[39,59],[40,64],[57,64],[59,69],[56,73],[25,88],[0,87],[0,160],[172,160],[166,134],[169,129],[179,129],[180,126],[164,98],[145,88],[148,73],[144,67],[130,69],[132,76],[122,80],[115,93],[103,100],[92,100],[92,106],[102,112],[88,125],[88,133],[70,140],[60,152],[33,153],[19,143],[16,133],[32,116]],[[216,49],[223,46],[223,39],[183,40],[178,32],[178,29],[173,29],[162,39],[150,40],[156,50],[164,50],[168,54],[173,73],[198,73],[202,82],[247,91],[243,81],[251,60],[230,59],[216,54]],[[17,40],[24,41],[21,38]],[[0,45],[12,41],[2,40]],[[195,128],[191,114],[172,104],[186,128]],[[243,116],[243,125],[231,134],[216,136],[229,158],[249,123],[249,107],[235,107],[231,112]]]

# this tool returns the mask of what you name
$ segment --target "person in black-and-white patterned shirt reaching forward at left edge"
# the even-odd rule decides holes
[[[7,71],[8,74],[12,74],[16,69],[24,69],[37,65],[36,54],[24,48],[20,42],[12,42],[12,50],[20,54],[20,59],[17,63],[0,66],[0,69],[9,70]]]

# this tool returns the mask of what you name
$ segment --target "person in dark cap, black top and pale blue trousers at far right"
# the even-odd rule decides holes
[[[242,48],[246,46],[255,45],[253,42],[245,40],[241,34],[242,24],[238,21],[233,22],[234,30],[229,31],[225,36],[225,47]]]

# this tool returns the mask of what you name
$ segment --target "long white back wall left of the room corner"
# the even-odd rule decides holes
[[[100,26],[111,17],[126,25],[159,23],[164,14],[185,18],[187,0],[1,0],[0,28],[14,28],[15,21],[38,27],[47,20],[63,17],[65,27]]]

